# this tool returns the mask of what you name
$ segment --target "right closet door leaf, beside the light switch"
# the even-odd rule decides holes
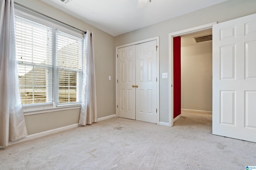
[[[156,40],[136,45],[136,120],[157,123]]]

